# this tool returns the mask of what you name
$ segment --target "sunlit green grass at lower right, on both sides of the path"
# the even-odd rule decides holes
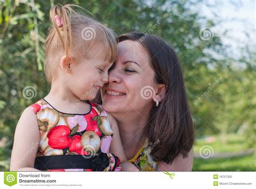
[[[194,154],[198,154],[204,145],[210,145],[214,153],[239,152],[249,149],[248,138],[238,134],[227,134],[227,143],[221,143],[221,136],[213,136],[215,141],[206,142],[204,138],[197,139],[194,144]],[[194,158],[193,171],[256,171],[256,156],[231,156],[227,158]]]

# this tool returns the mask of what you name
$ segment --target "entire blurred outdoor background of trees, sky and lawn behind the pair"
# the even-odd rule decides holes
[[[118,35],[156,34],[183,68],[196,131],[193,171],[256,171],[255,1],[0,1],[0,171],[15,127],[50,87],[44,77],[49,10],[74,3]],[[29,132],[29,131],[28,131]]]

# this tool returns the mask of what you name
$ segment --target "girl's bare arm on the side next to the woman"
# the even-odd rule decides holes
[[[110,126],[113,131],[110,152],[120,158],[122,163],[121,171],[139,171],[136,166],[129,163],[126,159],[116,119],[114,119],[109,113],[107,113],[107,118],[109,119]]]

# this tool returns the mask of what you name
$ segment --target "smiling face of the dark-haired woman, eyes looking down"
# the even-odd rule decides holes
[[[109,73],[109,83],[101,91],[104,109],[110,113],[144,114],[153,104],[154,70],[150,57],[141,44],[132,40],[118,43],[118,57]],[[153,88],[152,88],[153,87]],[[151,90],[151,93],[146,93]]]

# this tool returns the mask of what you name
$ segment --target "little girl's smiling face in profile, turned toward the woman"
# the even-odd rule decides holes
[[[105,60],[106,53],[100,45],[87,54],[90,57],[82,57],[79,63],[73,65],[68,81],[69,89],[80,100],[92,100],[96,97],[98,89],[107,83],[107,70],[112,65]]]

